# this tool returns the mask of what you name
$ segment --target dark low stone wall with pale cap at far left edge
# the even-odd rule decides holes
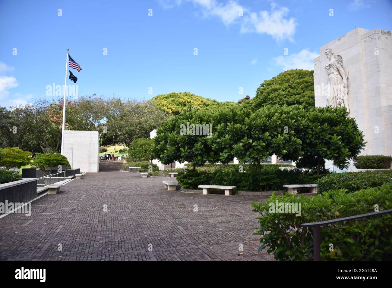
[[[37,196],[37,179],[23,178],[22,180],[0,184],[0,203],[29,202]]]

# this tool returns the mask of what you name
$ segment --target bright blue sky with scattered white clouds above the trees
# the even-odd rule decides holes
[[[56,98],[46,86],[64,85],[67,48],[79,95],[238,101],[356,27],[392,30],[392,1],[0,0],[0,24],[0,106]]]

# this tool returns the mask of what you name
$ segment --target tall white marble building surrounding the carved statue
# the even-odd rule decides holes
[[[367,141],[361,155],[392,155],[392,32],[356,28],[320,47],[314,58],[316,106],[327,105],[327,49],[341,56],[348,74],[349,116]]]

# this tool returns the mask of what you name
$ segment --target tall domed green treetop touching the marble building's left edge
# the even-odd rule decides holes
[[[245,105],[253,111],[266,105],[301,105],[314,107],[313,70],[287,70],[265,80],[256,90],[256,96]]]

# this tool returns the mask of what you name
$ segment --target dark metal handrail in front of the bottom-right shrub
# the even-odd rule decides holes
[[[390,212],[392,212],[392,209],[387,209],[387,210],[377,211],[377,212],[371,212],[371,213],[366,213],[366,214],[359,214],[359,215],[355,215],[355,216],[343,217],[343,218],[327,220],[327,221],[320,221],[320,222],[303,223],[303,224],[301,224],[303,227],[312,227],[312,226],[314,226],[314,229],[313,229],[313,243],[314,243],[313,244],[313,261],[320,261],[320,226],[321,225],[327,225],[327,224],[331,224],[331,223],[349,221],[349,220],[354,220],[354,219],[359,219],[359,218],[367,218],[367,217],[380,215],[380,214],[385,214],[385,213],[390,213]]]

